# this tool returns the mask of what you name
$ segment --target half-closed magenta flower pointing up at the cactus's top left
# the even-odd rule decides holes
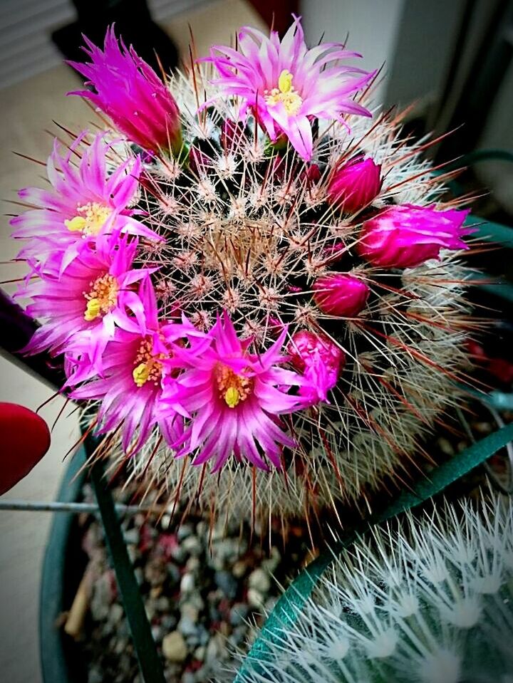
[[[149,152],[182,147],[180,111],[171,93],[155,71],[138,56],[133,47],[116,38],[112,26],[105,34],[103,52],[84,38],[83,50],[90,63],[69,62],[86,77],[94,90],[78,90],[107,114],[129,140]]]

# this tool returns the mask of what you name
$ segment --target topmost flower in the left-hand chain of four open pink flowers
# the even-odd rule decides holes
[[[84,240],[115,231],[162,239],[134,218],[129,209],[138,189],[140,159],[118,163],[103,134],[86,145],[86,133],[79,135],[62,157],[58,140],[48,158],[48,179],[52,189],[28,187],[19,191],[32,204],[24,214],[11,219],[13,236],[31,239],[19,257],[44,261],[49,254],[61,254],[62,268],[78,254]],[[78,159],[78,166],[76,165]],[[113,167],[112,162],[117,163]]]

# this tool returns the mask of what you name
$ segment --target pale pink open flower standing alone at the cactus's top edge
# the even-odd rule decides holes
[[[296,152],[309,161],[312,118],[371,116],[351,95],[374,74],[340,64],[341,59],[360,56],[346,51],[341,43],[321,43],[309,50],[300,18],[294,16],[281,42],[276,31],[267,38],[256,28],[244,27],[239,33],[239,51],[214,46],[207,61],[219,71],[214,85],[225,95],[242,98],[243,114],[252,110],[273,142],[286,135]]]

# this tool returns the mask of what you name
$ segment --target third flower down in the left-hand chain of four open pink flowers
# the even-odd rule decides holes
[[[73,370],[68,385],[81,387],[71,392],[78,400],[101,400],[98,412],[98,433],[121,430],[125,452],[137,452],[158,425],[167,443],[173,444],[182,434],[182,416],[167,406],[162,417],[162,377],[177,372],[173,362],[172,341],[184,336],[184,325],[157,321],[157,303],[150,278],[141,285],[140,297],[145,322],[134,319],[135,328],[115,330],[115,336],[105,348],[102,358],[103,377],[96,377],[88,363],[88,345],[73,345]]]

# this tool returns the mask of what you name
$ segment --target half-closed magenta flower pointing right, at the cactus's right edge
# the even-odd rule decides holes
[[[413,268],[440,258],[441,249],[468,249],[462,236],[473,232],[463,226],[469,210],[404,204],[390,207],[363,224],[358,253],[374,266]]]

